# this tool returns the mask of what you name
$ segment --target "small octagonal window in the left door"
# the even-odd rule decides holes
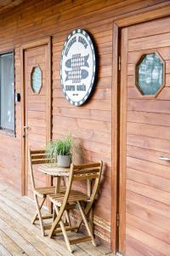
[[[31,71],[31,89],[39,93],[42,88],[42,70],[40,67],[33,67]]]

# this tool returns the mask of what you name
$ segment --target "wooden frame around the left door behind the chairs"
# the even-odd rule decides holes
[[[48,46],[48,108],[46,110],[47,140],[52,137],[52,67],[51,67],[51,37],[40,38],[20,46],[20,63],[21,63],[21,194],[27,194],[27,171],[26,171],[26,138],[24,137],[24,125],[26,124],[26,95],[25,95],[25,51],[38,46]],[[51,180],[46,178],[46,183],[50,184]]]

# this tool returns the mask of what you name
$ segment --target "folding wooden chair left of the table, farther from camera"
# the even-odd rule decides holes
[[[43,225],[42,219],[51,218],[53,215],[48,214],[48,215],[42,216],[41,210],[42,210],[42,206],[43,206],[47,196],[55,193],[55,187],[48,186],[48,187],[37,188],[35,185],[33,166],[44,164],[44,163],[50,163],[51,161],[48,159],[48,155],[46,154],[45,150],[30,150],[29,149],[28,159],[29,159],[29,167],[30,167],[30,171],[31,171],[31,185],[32,185],[33,195],[34,195],[36,207],[37,207],[37,211],[35,212],[32,220],[31,220],[31,224],[35,224],[35,221],[39,220],[40,227],[42,230],[42,236],[44,236],[45,233],[44,233],[44,225]],[[42,199],[42,201],[38,202],[38,198],[40,200]]]

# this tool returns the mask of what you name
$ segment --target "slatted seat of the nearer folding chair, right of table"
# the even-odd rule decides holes
[[[48,196],[49,200],[58,206],[61,205],[62,201],[64,200],[64,197],[65,197],[65,191],[58,194],[51,194]],[[82,192],[77,190],[71,190],[67,202],[87,201],[88,199],[89,199],[88,195],[83,194]]]

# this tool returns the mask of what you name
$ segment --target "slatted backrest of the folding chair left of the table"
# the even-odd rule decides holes
[[[46,153],[46,150],[31,150],[31,149],[28,150],[28,160],[29,160],[29,167],[31,171],[32,189],[35,189],[33,166],[51,163],[51,160],[49,159],[48,154]]]

